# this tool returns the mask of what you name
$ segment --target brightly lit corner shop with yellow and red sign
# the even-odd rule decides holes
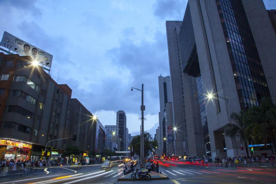
[[[32,144],[13,140],[0,139],[2,158],[6,160],[29,160],[32,154]]]

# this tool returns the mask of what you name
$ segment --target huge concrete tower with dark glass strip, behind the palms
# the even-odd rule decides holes
[[[176,40],[169,44],[170,62],[178,60],[180,76],[201,77],[203,94],[215,97],[204,99],[212,158],[242,156],[243,141],[223,134],[230,114],[263,97],[276,102],[276,37],[263,1],[189,1],[183,22],[167,22],[168,32]]]

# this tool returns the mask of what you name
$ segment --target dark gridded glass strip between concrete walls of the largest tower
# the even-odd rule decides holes
[[[242,110],[270,97],[241,0],[216,0]]]

